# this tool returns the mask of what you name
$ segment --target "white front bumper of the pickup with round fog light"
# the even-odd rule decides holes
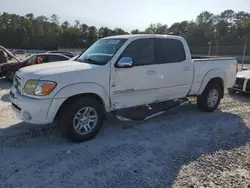
[[[49,124],[64,100],[34,99],[20,94],[14,86],[10,90],[11,106],[15,114],[31,124]]]

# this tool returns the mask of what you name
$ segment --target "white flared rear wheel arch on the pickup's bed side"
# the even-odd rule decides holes
[[[225,85],[225,77],[226,74],[222,69],[212,69],[207,72],[207,74],[204,76],[203,81],[201,82],[200,89],[197,93],[197,95],[201,95],[204,89],[206,88],[208,82],[213,78],[221,78],[223,85]]]

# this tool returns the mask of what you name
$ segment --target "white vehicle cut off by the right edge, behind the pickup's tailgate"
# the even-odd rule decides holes
[[[236,81],[232,88],[228,89],[230,94],[237,91],[250,93],[250,70],[240,71],[236,75]]]

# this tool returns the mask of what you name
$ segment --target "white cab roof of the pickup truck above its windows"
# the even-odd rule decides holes
[[[183,39],[183,37],[176,36],[176,35],[157,35],[157,34],[132,34],[132,35],[116,35],[105,37],[103,39],[139,39],[139,38],[149,38],[149,37],[157,37],[157,38],[172,38],[172,39]]]

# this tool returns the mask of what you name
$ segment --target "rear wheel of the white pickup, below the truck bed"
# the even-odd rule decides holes
[[[209,84],[203,93],[197,97],[197,106],[200,110],[205,111],[205,112],[213,112],[220,104],[220,100],[222,98],[222,87],[218,84],[211,83]],[[218,97],[215,100],[215,96],[212,97],[214,100],[210,100],[209,98],[210,94],[213,95],[214,93],[217,93]]]

